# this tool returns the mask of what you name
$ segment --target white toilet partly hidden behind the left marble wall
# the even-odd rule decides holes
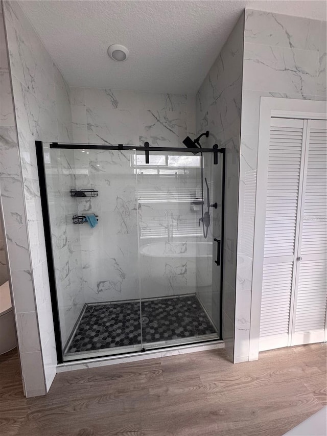
[[[9,282],[0,286],[0,354],[16,347],[15,321],[12,312]]]

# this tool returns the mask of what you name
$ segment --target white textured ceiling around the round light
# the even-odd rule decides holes
[[[195,94],[242,10],[326,19],[318,1],[19,2],[71,86]],[[110,44],[130,57],[115,62]]]

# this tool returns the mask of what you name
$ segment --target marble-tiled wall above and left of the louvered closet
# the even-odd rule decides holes
[[[326,22],[246,9],[235,362],[249,357],[260,98],[326,100]],[[258,180],[260,182],[260,180]]]

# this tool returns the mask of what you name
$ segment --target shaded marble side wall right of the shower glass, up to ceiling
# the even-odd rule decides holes
[[[235,327],[243,32],[242,14],[196,96],[197,132],[209,130],[207,147],[217,143],[226,148],[222,336],[231,358]]]

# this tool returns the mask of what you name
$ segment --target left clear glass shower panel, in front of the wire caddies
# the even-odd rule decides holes
[[[140,351],[135,151],[44,146],[63,360]]]

